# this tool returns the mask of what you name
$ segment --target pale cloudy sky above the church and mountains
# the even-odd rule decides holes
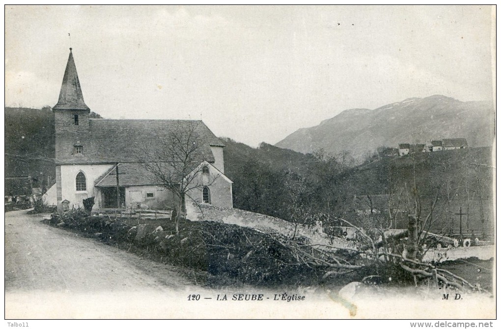
[[[5,7],[6,106],[57,103],[73,55],[106,118],[274,144],[349,108],[492,101],[490,6]],[[68,35],[70,33],[70,35]]]

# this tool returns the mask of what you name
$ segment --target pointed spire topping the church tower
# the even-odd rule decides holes
[[[63,84],[61,85],[61,92],[59,93],[58,103],[53,107],[54,109],[86,109],[89,107],[84,102],[84,95],[78,80],[77,67],[73,60],[72,48],[70,48],[70,56],[64,71]]]

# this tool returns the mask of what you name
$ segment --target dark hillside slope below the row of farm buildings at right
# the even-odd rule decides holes
[[[346,209],[353,204],[349,198],[355,195],[390,195],[392,202],[407,207],[414,200],[414,182],[423,213],[429,211],[435,197],[434,230],[458,229],[460,207],[464,216],[464,226],[480,229],[485,219],[487,230],[493,224],[493,166],[492,148],[474,147],[415,156],[381,157],[344,171],[339,183],[332,186],[338,195],[348,200]],[[388,203],[388,202],[387,202]],[[412,206],[411,206],[412,208]],[[468,224],[466,224],[468,222]],[[405,227],[402,217],[399,225]]]

